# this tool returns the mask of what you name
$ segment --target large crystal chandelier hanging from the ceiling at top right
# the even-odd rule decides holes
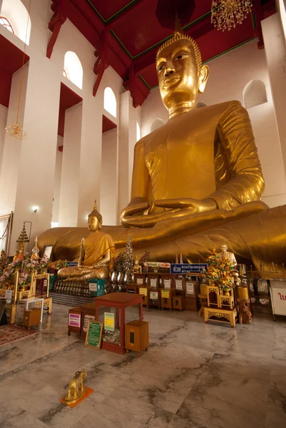
[[[218,30],[228,30],[242,24],[252,8],[252,0],[213,0],[211,22]]]

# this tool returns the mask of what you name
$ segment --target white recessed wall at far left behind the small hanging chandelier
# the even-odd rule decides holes
[[[26,86],[29,72],[29,65],[26,64],[23,68],[23,82],[21,89],[21,104],[19,108],[19,123],[23,123],[25,102],[26,102]],[[18,183],[18,170],[19,162],[21,158],[21,147],[24,146],[25,141],[14,141],[9,136],[4,136],[5,126],[9,126],[10,123],[16,122],[17,108],[19,101],[19,90],[21,80],[21,68],[16,71],[12,77],[11,91],[8,115],[6,123],[1,128],[0,132],[4,137],[4,146],[1,159],[1,172],[0,172],[0,215],[11,213],[15,210],[16,201],[16,190]]]

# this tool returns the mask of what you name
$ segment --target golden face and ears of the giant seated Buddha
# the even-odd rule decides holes
[[[160,95],[166,108],[182,102],[195,101],[205,90],[209,68],[198,71],[193,45],[180,39],[160,51],[156,61]]]

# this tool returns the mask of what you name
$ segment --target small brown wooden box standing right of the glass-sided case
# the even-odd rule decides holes
[[[131,321],[125,326],[125,347],[126,352],[136,351],[138,357],[141,357],[141,351],[148,350],[149,332],[148,322]]]

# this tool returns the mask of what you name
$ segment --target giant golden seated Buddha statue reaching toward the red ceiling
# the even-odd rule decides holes
[[[135,254],[148,249],[152,260],[172,261],[181,253],[198,262],[225,243],[238,263],[282,263],[286,210],[260,201],[264,180],[247,111],[238,101],[196,108],[209,68],[180,29],[160,47],[156,67],[169,120],[136,143],[124,227],[104,228],[116,250],[131,236]],[[40,243],[71,260],[83,233],[47,230]]]

